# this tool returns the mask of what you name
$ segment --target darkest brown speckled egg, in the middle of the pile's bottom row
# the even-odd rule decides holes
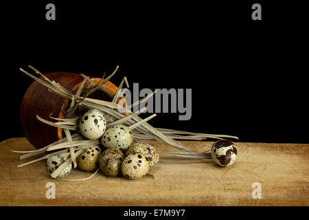
[[[124,154],[116,148],[106,149],[100,157],[100,169],[104,175],[115,177],[121,173]]]

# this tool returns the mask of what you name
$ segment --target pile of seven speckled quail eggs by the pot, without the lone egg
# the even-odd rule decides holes
[[[127,179],[138,179],[159,162],[159,153],[150,144],[133,143],[133,133],[123,124],[106,129],[104,113],[90,109],[80,118],[80,133],[89,140],[101,140],[102,146],[96,145],[85,149],[77,158],[80,170],[93,172],[100,167],[108,177],[123,175]],[[53,173],[65,160],[59,155],[47,159],[46,169]],[[58,177],[65,177],[72,169],[71,164]]]

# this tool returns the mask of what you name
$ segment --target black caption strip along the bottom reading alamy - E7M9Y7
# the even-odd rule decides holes
[[[282,219],[286,216],[289,216],[293,213],[293,217],[303,217],[307,211],[308,207],[266,207],[266,206],[255,206],[255,207],[248,207],[248,206],[82,206],[82,207],[55,207],[55,206],[16,206],[16,207],[0,207],[1,213],[3,211],[10,213],[12,217],[20,217],[21,213],[23,215],[33,215],[32,218],[34,219],[41,219],[40,214],[34,213],[47,213],[47,212],[61,212],[67,213],[70,212],[71,217],[76,217],[76,219],[87,219],[89,218],[89,213],[94,214],[102,214],[112,216],[115,219],[143,219],[142,217],[124,217],[124,212],[130,210],[135,211],[147,211],[152,212],[152,215],[148,214],[145,219],[192,219],[192,217],[205,217],[207,219],[211,219],[214,217],[218,217],[218,213],[221,216],[229,216],[231,219],[248,219],[250,217],[255,217],[255,219],[263,219],[266,215],[271,217],[271,219]],[[166,210],[174,209],[174,210],[185,210],[183,217],[155,217],[154,210]],[[158,211],[159,213],[161,211]],[[183,213],[182,211],[180,212]],[[231,214],[232,213],[232,214]],[[233,214],[235,213],[235,214]],[[234,217],[234,218],[233,218]]]

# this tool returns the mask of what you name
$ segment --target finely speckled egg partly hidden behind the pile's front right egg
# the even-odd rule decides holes
[[[143,153],[147,157],[150,167],[155,166],[155,164],[159,162],[159,153],[148,143],[137,142],[131,144],[126,150],[126,155],[130,155],[132,153]]]

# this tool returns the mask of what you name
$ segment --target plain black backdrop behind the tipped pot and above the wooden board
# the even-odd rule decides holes
[[[308,143],[308,23],[297,1],[27,1],[1,6],[1,140],[21,137],[32,79],[19,71],[127,76],[140,88],[191,88],[192,118],[158,127]],[[300,2],[300,1],[299,1]],[[45,5],[56,5],[56,21]],[[262,21],[251,5],[262,5]],[[10,85],[10,86],[8,86]]]

